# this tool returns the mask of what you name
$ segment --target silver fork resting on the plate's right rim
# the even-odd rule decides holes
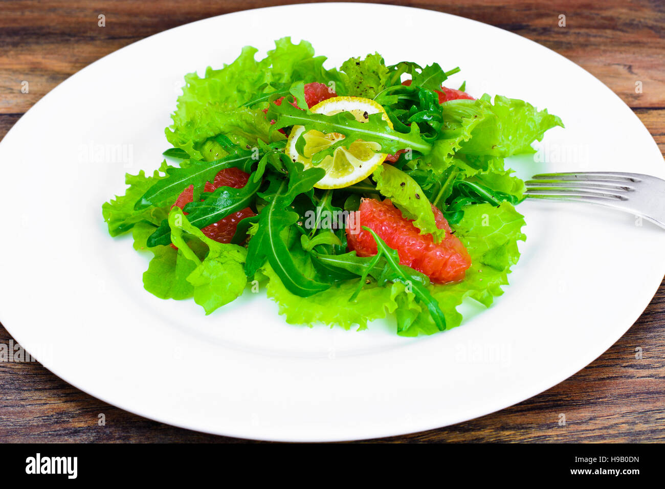
[[[665,229],[665,180],[624,172],[542,173],[527,180],[526,196],[589,202],[657,224]]]

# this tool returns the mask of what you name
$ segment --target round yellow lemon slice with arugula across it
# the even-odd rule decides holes
[[[392,122],[388,114],[380,104],[369,98],[358,96],[336,96],[323,100],[310,109],[315,114],[333,115],[338,112],[350,112],[359,122],[366,122],[370,114],[382,114],[383,119],[388,122],[392,128]],[[332,156],[323,158],[318,165],[315,165],[311,158],[313,154],[329,148],[340,139],[344,139],[344,134],[338,132],[329,132],[327,134],[309,130],[305,132],[304,154],[297,152],[295,145],[298,138],[305,132],[303,126],[293,126],[291,134],[287,140],[286,153],[294,160],[301,162],[305,168],[318,167],[326,171],[325,176],[317,182],[317,188],[342,188],[364,180],[377,166],[386,159],[385,153],[377,153],[381,145],[376,142],[357,140],[350,144],[348,148],[339,147],[334,150]]]

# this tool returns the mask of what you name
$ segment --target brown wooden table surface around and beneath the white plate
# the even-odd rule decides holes
[[[96,59],[184,23],[290,1],[3,1],[0,138],[54,86]],[[386,3],[386,2],[384,2]],[[628,104],[665,152],[665,4],[658,1],[387,2],[440,10],[533,39],[575,61]],[[313,15],[315,15],[315,10]],[[98,15],[106,27],[98,27]],[[559,27],[559,15],[566,26]],[[398,26],[384,26],[395,29]],[[547,76],[547,74],[543,74]],[[21,93],[21,82],[29,93]],[[642,92],[636,92],[642,82]],[[630,156],[630,154],[626,154]],[[3,162],[7,164],[7,162]],[[39,176],[35,176],[39,178]],[[11,277],[0,277],[11,280]],[[619,279],[619,278],[618,278]],[[1,311],[0,311],[1,315]],[[613,347],[561,384],[462,424],[382,441],[665,441],[665,287]],[[9,343],[0,327],[0,343]],[[642,358],[636,358],[641,349]],[[0,441],[237,442],[102,403],[37,363],[0,363]],[[98,414],[106,425],[98,426]],[[559,426],[559,414],[567,424]]]

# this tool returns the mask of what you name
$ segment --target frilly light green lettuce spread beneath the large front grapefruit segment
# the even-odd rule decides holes
[[[508,202],[499,207],[467,206],[462,222],[454,228],[471,254],[473,264],[459,283],[427,285],[444,314],[446,329],[462,322],[457,307],[465,297],[489,307],[494,297],[503,293],[501,286],[507,285],[510,267],[519,259],[517,241],[526,239],[521,232],[524,224],[523,216]],[[428,309],[401,283],[380,287],[371,281],[350,301],[358,287],[358,279],[352,279],[334,283],[329,289],[304,298],[290,293],[269,264],[264,265],[262,271],[269,279],[268,296],[279,303],[279,313],[285,315],[287,323],[337,324],[344,329],[359,325],[358,329],[365,329],[367,321],[395,313],[399,335],[431,335],[440,331]]]

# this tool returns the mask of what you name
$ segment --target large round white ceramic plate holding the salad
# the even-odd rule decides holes
[[[378,28],[396,24],[418,35]],[[511,160],[522,177],[665,176],[647,130],[606,86],[495,27],[348,3],[184,25],[83,69],[0,144],[0,320],[45,367],[108,403],[177,426],[347,440],[436,428],[523,401],[585,367],[638,318],[665,271],[665,232],[636,226],[630,215],[553,202],[519,206],[529,239],[506,293],[486,311],[468,305],[462,327],[432,337],[397,337],[388,323],[359,333],[291,326],[274,303],[249,293],[205,317],[193,301],[144,291],[147,259],[129,239],[106,234],[102,202],[124,192],[124,172],[159,165],[185,73],[229,63],[243,45],[262,55],[284,35],[311,41],[329,66],[374,51],[388,63],[459,65],[452,86],[466,80],[471,94],[549,108],[566,129],[547,134],[537,157],[545,161]],[[110,154],[116,145],[125,158]]]

